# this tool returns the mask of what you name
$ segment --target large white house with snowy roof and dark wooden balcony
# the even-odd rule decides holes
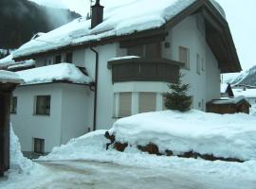
[[[32,59],[36,67],[17,72],[29,73],[14,92],[11,114],[23,151],[48,152],[89,130],[109,129],[119,117],[164,110],[162,93],[179,71],[191,84],[192,108],[204,111],[220,98],[220,74],[241,71],[225,13],[213,0],[101,4],[91,20],[76,19],[13,52],[14,60]],[[86,79],[56,77],[67,66],[62,62]],[[46,79],[40,68],[55,74]]]

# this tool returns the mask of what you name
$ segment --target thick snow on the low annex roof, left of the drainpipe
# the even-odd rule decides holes
[[[49,83],[53,81],[70,81],[81,84],[90,82],[90,78],[85,76],[79,68],[71,63],[59,63],[16,73],[25,80],[24,85]]]

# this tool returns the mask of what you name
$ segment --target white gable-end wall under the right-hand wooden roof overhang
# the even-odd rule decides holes
[[[179,60],[179,46],[189,49],[190,69],[182,68],[181,73],[183,83],[190,83],[189,94],[193,96],[192,107],[194,109],[205,110],[198,107],[198,103],[206,103],[212,98],[220,97],[220,70],[218,62],[212,55],[210,47],[205,40],[204,33],[200,32],[196,24],[196,15],[184,19],[174,28],[170,29],[165,43],[170,43],[170,48],[162,45],[162,54],[166,59]],[[196,72],[196,55],[204,60],[205,70],[202,70],[200,63],[200,74]]]

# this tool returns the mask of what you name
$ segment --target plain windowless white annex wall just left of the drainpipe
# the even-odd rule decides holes
[[[61,143],[85,134],[93,126],[93,94],[84,85],[63,85]]]

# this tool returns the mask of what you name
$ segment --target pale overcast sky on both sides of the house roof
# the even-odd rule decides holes
[[[31,0],[56,8],[71,9],[86,15],[90,0]],[[256,64],[256,0],[217,0],[226,11],[227,20],[242,68]]]

